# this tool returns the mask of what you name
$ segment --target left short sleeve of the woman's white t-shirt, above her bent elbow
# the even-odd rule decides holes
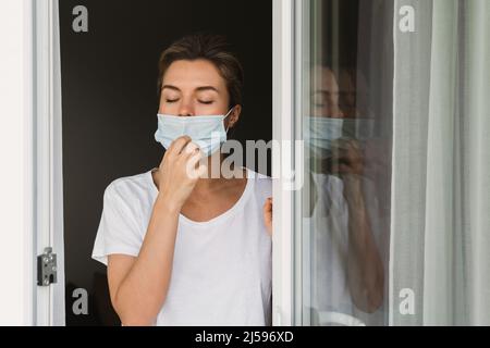
[[[112,183],[103,192],[103,209],[91,258],[107,265],[109,254],[137,257],[142,235],[131,198],[124,197]]]

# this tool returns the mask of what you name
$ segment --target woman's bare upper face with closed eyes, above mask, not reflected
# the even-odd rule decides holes
[[[209,61],[175,61],[163,76],[160,114],[224,115],[230,96],[225,80]]]

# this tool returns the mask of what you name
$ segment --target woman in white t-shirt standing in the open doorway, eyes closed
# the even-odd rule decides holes
[[[159,69],[167,151],[158,169],[108,186],[93,252],[112,304],[123,325],[269,325],[271,181],[210,175],[242,111],[241,64],[222,38],[195,35]]]

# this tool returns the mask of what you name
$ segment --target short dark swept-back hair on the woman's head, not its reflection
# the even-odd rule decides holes
[[[242,104],[242,89],[244,85],[244,73],[242,64],[234,53],[224,36],[211,34],[188,35],[173,42],[166,49],[158,63],[158,94],[161,94],[163,76],[170,65],[181,60],[207,60],[215,64],[221,77],[226,83],[230,95],[230,108]]]

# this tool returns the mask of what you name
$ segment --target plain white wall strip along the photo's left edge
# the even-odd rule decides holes
[[[0,0],[0,325],[33,324],[32,1]]]

